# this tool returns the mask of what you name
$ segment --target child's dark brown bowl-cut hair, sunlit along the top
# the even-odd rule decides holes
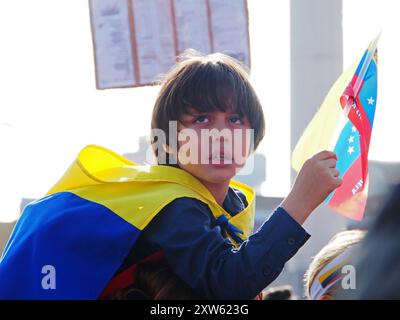
[[[154,105],[151,129],[161,129],[166,138],[161,144],[171,145],[177,137],[169,136],[169,121],[179,121],[181,115],[189,114],[190,108],[199,113],[232,109],[249,120],[254,129],[255,150],[264,137],[265,120],[248,77],[247,68],[232,57],[186,50],[160,81],[162,86]],[[164,151],[155,149],[157,138],[152,130],[151,143],[158,163],[163,156],[168,164],[168,154],[161,155]]]

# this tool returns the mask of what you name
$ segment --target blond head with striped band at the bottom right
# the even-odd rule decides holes
[[[340,232],[317,253],[304,275],[308,299],[331,300],[340,295],[343,268],[353,265],[352,249],[364,236],[363,230]]]

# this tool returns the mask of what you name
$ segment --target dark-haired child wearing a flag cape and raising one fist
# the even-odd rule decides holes
[[[263,138],[264,116],[246,70],[223,54],[183,57],[162,84],[151,126],[158,165],[89,146],[46,198],[25,209],[0,263],[5,288],[13,289],[0,288],[0,297],[110,298],[136,287],[141,297],[168,298],[160,291],[171,287],[169,277],[154,278],[156,292],[140,284],[152,279],[136,281],[155,264],[181,282],[181,298],[253,299],[307,241],[301,225],[341,184],[336,155],[316,154],[250,235],[254,191],[231,179]],[[22,254],[32,250],[40,257],[34,264]],[[25,265],[23,280],[10,276],[16,261]],[[45,263],[57,265],[57,290],[21,294],[16,283],[27,288]]]

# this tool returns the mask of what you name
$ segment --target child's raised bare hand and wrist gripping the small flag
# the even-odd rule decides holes
[[[308,159],[281,207],[302,224],[311,212],[342,184],[336,169],[336,154],[321,151]]]

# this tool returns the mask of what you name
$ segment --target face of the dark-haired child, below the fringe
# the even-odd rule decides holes
[[[253,136],[248,119],[233,111],[198,113],[190,109],[189,112],[178,121],[179,166],[208,183],[229,182],[251,152]]]

